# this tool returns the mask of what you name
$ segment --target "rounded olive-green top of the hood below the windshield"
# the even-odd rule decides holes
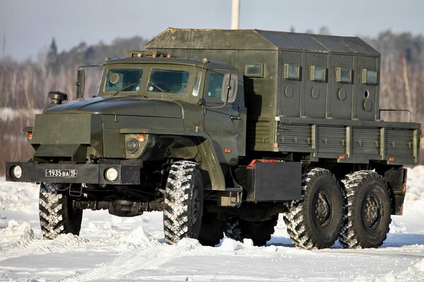
[[[136,115],[145,117],[182,118],[183,108],[177,102],[136,97],[98,97],[49,107],[49,113]]]

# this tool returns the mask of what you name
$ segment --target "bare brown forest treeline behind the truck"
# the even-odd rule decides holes
[[[424,37],[410,33],[380,33],[363,37],[382,54],[380,108],[408,109],[413,121],[424,123]],[[76,69],[81,65],[102,64],[106,57],[122,57],[124,50],[144,49],[142,37],[117,39],[110,45],[81,43],[64,52],[52,40],[36,61],[0,60],[0,175],[7,160],[28,160],[30,146],[22,128],[33,124],[34,114],[49,102],[47,93],[59,90],[75,99]],[[87,76],[86,93],[95,93],[100,70]],[[90,79],[91,78],[91,79]],[[404,114],[384,114],[384,120],[407,121]],[[421,162],[424,163],[421,152]]]

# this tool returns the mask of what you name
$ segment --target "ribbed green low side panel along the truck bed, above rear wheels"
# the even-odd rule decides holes
[[[340,163],[383,160],[390,165],[415,165],[420,134],[420,124],[406,122],[290,118],[276,122],[278,151],[310,153],[311,160],[334,158]]]

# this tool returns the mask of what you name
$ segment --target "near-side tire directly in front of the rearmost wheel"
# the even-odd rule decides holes
[[[296,247],[325,249],[334,245],[343,221],[343,196],[336,177],[323,168],[302,177],[301,201],[293,201],[284,215]]]

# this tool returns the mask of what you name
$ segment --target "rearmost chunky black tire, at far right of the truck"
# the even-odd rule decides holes
[[[383,177],[361,170],[346,175],[342,182],[346,212],[339,242],[349,249],[381,246],[391,223],[391,200]]]

